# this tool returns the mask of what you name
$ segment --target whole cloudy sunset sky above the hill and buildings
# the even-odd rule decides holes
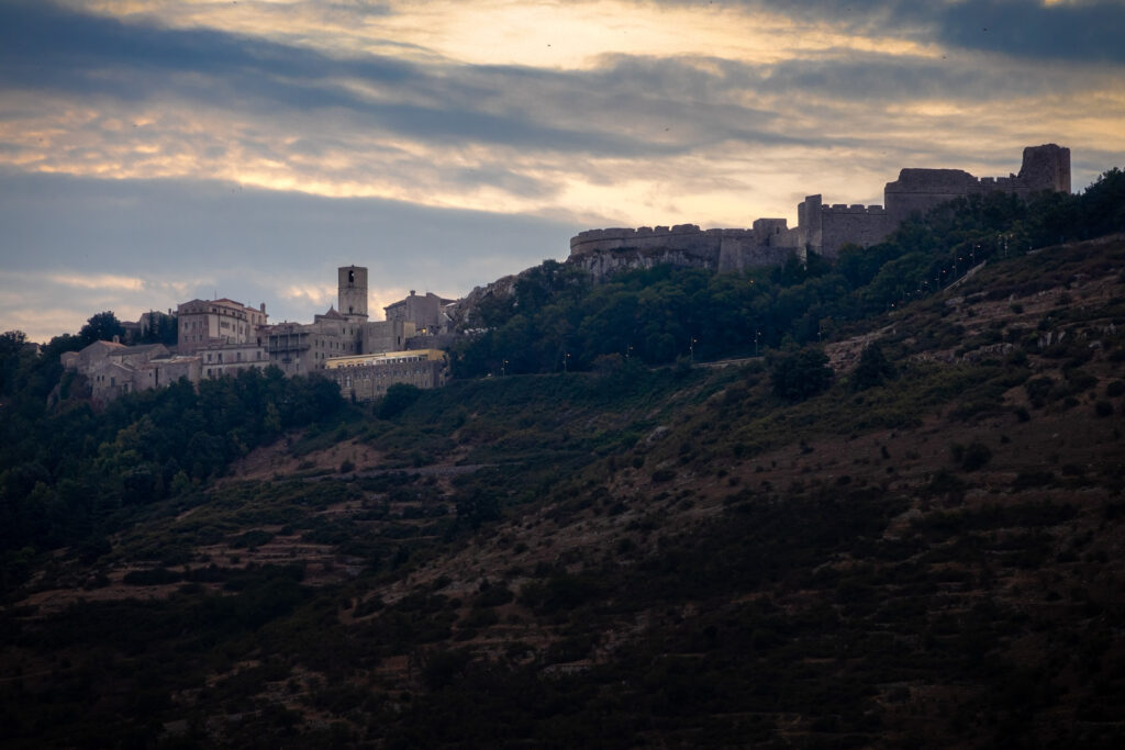
[[[369,269],[371,319],[586,228],[796,220],[903,166],[1125,168],[1125,0],[0,0],[0,331]]]

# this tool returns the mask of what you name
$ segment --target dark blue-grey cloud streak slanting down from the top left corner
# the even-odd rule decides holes
[[[0,6],[0,85],[143,100],[174,93],[212,107],[261,114],[345,112],[414,137],[591,153],[672,153],[669,144],[538,121],[520,102],[488,109],[515,67],[421,66],[389,57],[335,58],[213,30],[169,30],[44,3]],[[556,74],[536,73],[543,79]],[[363,98],[344,81],[393,97]],[[533,103],[533,102],[526,102]]]

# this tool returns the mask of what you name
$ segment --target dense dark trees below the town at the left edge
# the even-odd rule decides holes
[[[100,539],[130,508],[189,494],[282,431],[343,407],[331,381],[271,368],[129,394],[99,414],[81,399],[48,406],[56,383],[52,403],[74,386],[57,354],[9,351],[2,371],[0,550]]]

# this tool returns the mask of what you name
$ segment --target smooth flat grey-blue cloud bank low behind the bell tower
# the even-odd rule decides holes
[[[42,341],[76,332],[100,310],[136,319],[196,297],[266,302],[271,320],[310,322],[335,304],[336,268],[349,263],[368,266],[372,289],[458,297],[565,257],[582,227],[379,199],[232,192],[215,181],[3,171],[0,226],[0,329]],[[50,323],[40,310],[52,311]]]

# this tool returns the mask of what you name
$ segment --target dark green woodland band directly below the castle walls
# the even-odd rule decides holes
[[[459,377],[585,370],[614,355],[664,364],[814,343],[842,322],[943,289],[990,257],[1116,231],[1125,231],[1125,173],[1114,169],[1078,196],[953,200],[883,243],[845,246],[835,266],[816,255],[744,274],[662,265],[595,286],[547,261],[521,274],[510,297],[480,305],[474,325],[485,333],[454,352],[453,369]]]

